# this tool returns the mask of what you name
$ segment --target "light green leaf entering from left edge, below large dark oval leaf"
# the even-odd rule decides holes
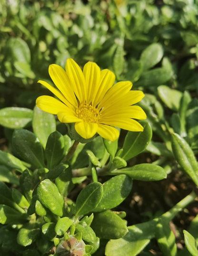
[[[26,167],[22,164],[22,162],[18,158],[1,150],[0,150],[0,164],[6,165],[11,169],[16,169],[20,172],[26,169]]]

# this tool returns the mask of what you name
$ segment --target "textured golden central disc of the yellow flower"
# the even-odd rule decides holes
[[[80,106],[76,109],[76,115],[88,123],[97,123],[100,117],[99,109],[87,103],[80,104]]]

